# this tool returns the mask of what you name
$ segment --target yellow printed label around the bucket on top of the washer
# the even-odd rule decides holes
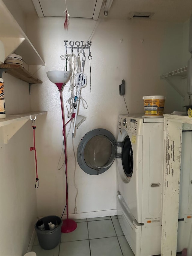
[[[146,116],[163,116],[164,99],[146,99],[144,100],[144,110]]]

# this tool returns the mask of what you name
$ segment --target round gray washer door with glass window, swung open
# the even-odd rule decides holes
[[[95,129],[86,133],[77,148],[77,162],[88,174],[104,173],[116,158],[116,139],[110,131]]]

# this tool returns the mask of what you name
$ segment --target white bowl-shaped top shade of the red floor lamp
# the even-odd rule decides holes
[[[70,79],[70,72],[64,70],[48,71],[47,77],[52,83],[67,83]]]

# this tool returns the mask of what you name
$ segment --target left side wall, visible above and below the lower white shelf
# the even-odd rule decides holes
[[[29,112],[29,85],[3,73],[6,114]],[[22,126],[0,153],[0,255],[26,253],[37,220],[31,121]]]

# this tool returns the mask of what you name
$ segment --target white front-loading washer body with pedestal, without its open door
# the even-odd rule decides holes
[[[164,118],[120,115],[118,218],[136,256],[161,254]]]

